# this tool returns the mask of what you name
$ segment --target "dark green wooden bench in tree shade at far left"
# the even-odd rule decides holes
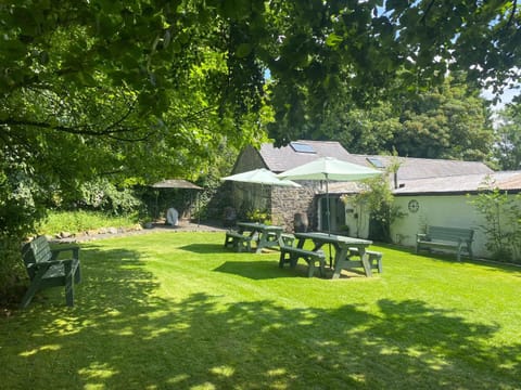
[[[72,259],[56,260],[63,251],[72,251]],[[35,294],[54,286],[65,286],[65,302],[74,306],[74,285],[80,283],[79,247],[51,249],[45,236],[39,236],[22,247],[30,285],[25,292],[21,309],[27,308]]]

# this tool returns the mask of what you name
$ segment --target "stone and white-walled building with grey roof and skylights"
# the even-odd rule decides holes
[[[303,145],[305,148],[302,148]],[[405,216],[392,225],[391,238],[395,244],[408,247],[416,246],[416,234],[423,232],[427,225],[465,227],[474,230],[474,255],[490,257],[485,248],[486,237],[480,229],[485,222],[470,200],[476,196],[487,177],[492,177],[496,186],[510,194],[521,191],[521,171],[494,172],[479,161],[355,155],[332,141],[297,141],[280,148],[272,144],[263,144],[259,150],[250,147],[239,157],[233,173],[255,168],[267,168],[280,173],[323,156],[382,171],[398,164],[396,174],[389,178],[389,182],[395,203]],[[303,184],[302,188],[269,188],[269,193],[263,196],[267,204],[271,204],[274,223],[291,231],[293,214],[300,212],[307,214],[309,230],[331,231],[361,238],[373,235],[368,210],[344,204],[341,199],[345,195],[357,193],[357,183],[330,182],[328,186],[323,182],[300,183]],[[326,187],[329,187],[328,196]],[[254,194],[249,190],[247,194],[259,196],[260,192]],[[331,226],[327,223],[327,199]]]

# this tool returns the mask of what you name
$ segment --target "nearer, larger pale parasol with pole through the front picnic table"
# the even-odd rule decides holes
[[[328,217],[328,234],[331,234],[329,181],[358,181],[374,178],[380,174],[382,174],[381,171],[372,168],[342,161],[334,157],[320,157],[310,162],[306,162],[302,166],[279,173],[278,177],[280,179],[326,181],[326,214]]]

